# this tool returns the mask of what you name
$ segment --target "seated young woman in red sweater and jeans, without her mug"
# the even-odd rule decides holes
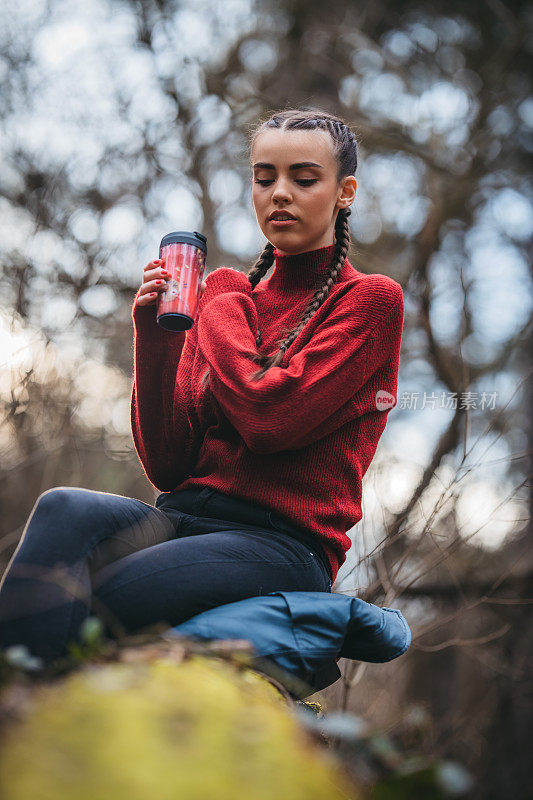
[[[133,303],[132,433],[155,506],[44,492],[0,586],[0,647],[52,661],[90,613],[114,635],[331,590],[396,402],[402,290],[346,259],[357,142],[341,119],[276,113],[251,159],[253,267],[209,274],[186,333],[156,324],[162,261]]]

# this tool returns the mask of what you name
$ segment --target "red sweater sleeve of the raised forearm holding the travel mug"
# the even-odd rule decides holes
[[[176,380],[186,333],[166,331],[155,306],[133,303],[131,430],[148,480],[172,491],[194,468],[197,447]]]

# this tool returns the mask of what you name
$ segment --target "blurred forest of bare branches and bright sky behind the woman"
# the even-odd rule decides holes
[[[533,785],[533,7],[473,0],[8,0],[0,8],[1,569],[38,495],[153,502],[131,304],[171,230],[247,269],[250,127],[319,107],[360,141],[350,260],[404,290],[398,404],[334,591],[402,609],[398,663],[318,698]]]

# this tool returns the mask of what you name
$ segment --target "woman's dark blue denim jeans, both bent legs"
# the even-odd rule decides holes
[[[45,664],[89,615],[119,638],[273,591],[331,590],[312,535],[213,489],[132,497],[58,487],[39,496],[0,582],[0,648]]]

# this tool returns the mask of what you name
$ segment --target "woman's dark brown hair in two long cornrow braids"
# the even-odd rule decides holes
[[[327,131],[334,145],[333,154],[337,160],[337,181],[340,181],[346,175],[353,175],[357,169],[357,139],[354,133],[349,129],[346,123],[333,114],[328,114],[324,111],[304,111],[301,109],[293,109],[289,111],[280,111],[273,114],[269,119],[262,122],[254,131],[251,139],[251,147],[253,147],[255,140],[259,134],[268,128],[279,128],[284,130],[324,130]],[[351,211],[349,208],[341,208],[337,212],[337,219],[335,221],[335,249],[331,264],[324,276],[320,281],[320,286],[313,293],[308,305],[301,314],[300,320],[292,329],[283,329],[282,336],[278,340],[278,350],[271,356],[259,352],[262,343],[261,331],[257,331],[256,345],[257,352],[249,355],[249,358],[260,366],[260,369],[255,372],[251,377],[251,381],[258,381],[268,372],[271,367],[276,367],[283,361],[283,356],[288,347],[296,339],[300,331],[309,322],[313,314],[322,305],[327,298],[331,287],[337,282],[340,277],[341,270],[344,266],[346,254],[350,246],[350,228],[348,226],[348,217]],[[267,242],[263,252],[247,272],[248,280],[255,289],[259,281],[268,272],[274,263],[274,246]],[[202,379],[202,385],[206,384],[209,380],[209,369]]]

